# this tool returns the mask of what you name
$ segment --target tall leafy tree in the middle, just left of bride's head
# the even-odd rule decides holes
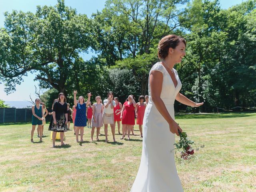
[[[129,68],[146,94],[148,71],[157,61],[156,44],[166,34],[179,33],[179,8],[187,0],[107,0],[94,14],[96,43],[93,48],[108,66]],[[154,54],[154,55],[152,55]],[[145,59],[145,60],[143,60]],[[129,64],[132,62],[132,64]]]

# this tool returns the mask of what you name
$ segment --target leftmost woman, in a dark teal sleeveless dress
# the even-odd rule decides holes
[[[40,141],[42,142],[42,124],[44,120],[44,114],[42,110],[42,105],[40,105],[40,99],[36,98],[36,104],[32,106],[32,130],[31,130],[31,142],[33,143],[33,135],[36,129],[36,125],[38,125]]]

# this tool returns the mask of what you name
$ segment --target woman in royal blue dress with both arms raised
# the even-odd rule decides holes
[[[83,142],[84,127],[86,126],[86,107],[89,105],[91,93],[88,93],[88,99],[85,102],[83,96],[79,96],[78,101],[76,100],[77,91],[74,91],[74,105],[76,108],[76,142],[78,141],[78,134],[80,130],[80,141]]]

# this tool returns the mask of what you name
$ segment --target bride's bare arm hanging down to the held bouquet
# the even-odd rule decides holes
[[[172,119],[163,100],[160,98],[162,92],[162,84],[163,84],[163,74],[160,71],[152,71],[149,77],[149,84],[151,90],[151,97],[154,105],[160,114],[164,117],[164,119],[168,122],[170,126],[170,130],[172,133],[178,134],[178,129],[182,132],[182,129],[178,126],[178,124]]]

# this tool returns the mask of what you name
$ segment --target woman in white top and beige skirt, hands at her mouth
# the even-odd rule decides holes
[[[108,124],[110,124],[111,132],[113,135],[113,140],[116,142],[115,139],[115,127],[114,127],[114,105],[115,102],[114,93],[112,91],[108,92],[108,98],[104,99],[104,110],[103,110],[103,124],[104,124],[104,131],[105,131],[105,142],[108,142]]]

